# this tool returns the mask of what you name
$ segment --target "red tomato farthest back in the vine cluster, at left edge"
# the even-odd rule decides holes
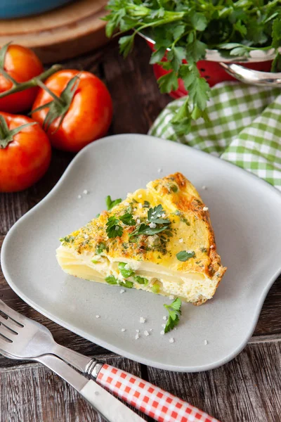
[[[15,79],[16,82],[25,82],[43,72],[43,65],[33,51],[26,47],[12,44],[8,46],[5,56],[4,70]],[[13,83],[1,75],[0,70],[0,93],[11,89]],[[8,113],[21,113],[32,108],[38,88],[30,88],[0,98],[0,110]]]

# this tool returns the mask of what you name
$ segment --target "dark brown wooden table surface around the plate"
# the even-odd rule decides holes
[[[110,134],[145,134],[170,101],[169,96],[159,94],[149,57],[142,39],[136,40],[136,49],[126,60],[119,56],[117,42],[113,41],[63,65],[89,70],[105,81],[115,108]],[[0,245],[8,229],[53,188],[72,158],[70,153],[54,151],[51,167],[39,183],[21,193],[0,194]],[[1,271],[0,286],[2,300],[50,328],[58,343],[131,371],[220,421],[281,421],[281,278],[268,293],[247,347],[221,368],[201,373],[161,371],[117,356],[26,305],[13,293]],[[0,396],[0,422],[102,421],[73,388],[41,364],[0,357]]]

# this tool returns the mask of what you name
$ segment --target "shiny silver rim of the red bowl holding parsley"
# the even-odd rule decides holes
[[[155,44],[154,39],[148,36],[143,32],[138,32],[146,41],[151,44]],[[167,49],[169,51],[169,49]],[[281,53],[281,47],[279,49]],[[214,62],[223,62],[223,63],[260,63],[264,61],[270,61],[275,58],[275,49],[269,50],[251,50],[249,52],[249,57],[239,57],[233,56],[233,58],[223,57],[221,51],[219,50],[209,50],[207,49],[206,56],[204,60],[214,61]]]

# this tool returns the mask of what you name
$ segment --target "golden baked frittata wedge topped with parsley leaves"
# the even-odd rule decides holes
[[[208,208],[183,174],[146,189],[60,239],[60,267],[73,276],[201,305],[226,271]]]

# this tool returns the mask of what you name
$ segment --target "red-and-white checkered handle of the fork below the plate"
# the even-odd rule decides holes
[[[113,366],[104,364],[96,381],[155,421],[218,422],[169,392]]]

